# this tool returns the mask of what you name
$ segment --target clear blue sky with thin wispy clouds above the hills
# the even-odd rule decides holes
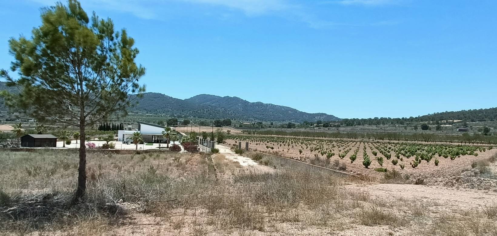
[[[7,40],[54,0],[3,1]],[[237,96],[339,118],[497,106],[495,0],[82,0],[126,28],[147,91]]]

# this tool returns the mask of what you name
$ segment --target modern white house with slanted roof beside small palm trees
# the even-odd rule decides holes
[[[164,142],[164,136],[162,132],[166,129],[166,126],[159,124],[147,123],[138,121],[138,129],[131,130],[131,125],[125,127],[126,130],[117,131],[117,140],[123,143],[131,142],[133,143],[133,133],[139,132],[142,134],[142,138],[147,143],[162,143]]]

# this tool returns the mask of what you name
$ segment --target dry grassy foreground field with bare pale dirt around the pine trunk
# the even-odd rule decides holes
[[[79,206],[67,203],[77,153],[0,153],[0,235],[497,235],[492,191],[274,169],[222,152],[90,154]]]

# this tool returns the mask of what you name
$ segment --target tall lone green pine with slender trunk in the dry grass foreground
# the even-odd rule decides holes
[[[41,10],[41,25],[32,36],[9,41],[14,57],[0,77],[19,93],[2,92],[5,104],[40,122],[79,128],[78,187],[74,201],[86,189],[86,127],[111,116],[126,115],[145,92],[139,79],[145,68],[135,62],[138,49],[126,30],[114,30],[111,19],[88,17],[77,0]],[[134,94],[130,96],[130,94]]]

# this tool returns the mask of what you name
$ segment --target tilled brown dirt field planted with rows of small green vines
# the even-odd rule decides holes
[[[289,146],[282,145],[281,142],[278,141],[266,141],[263,138],[257,141],[249,141],[249,148],[254,151],[260,151],[264,153],[274,154],[277,156],[292,158],[295,160],[299,160],[302,162],[317,164],[324,163],[326,161],[326,154],[328,152],[334,153],[334,155],[330,158],[329,163],[331,165],[333,162],[339,162],[340,165],[345,166],[345,171],[353,173],[353,174],[369,174],[369,175],[382,175],[378,172],[375,172],[376,168],[387,168],[388,170],[396,170],[401,172],[402,174],[408,174],[412,177],[445,177],[448,175],[452,175],[455,173],[461,173],[463,170],[471,169],[471,164],[473,162],[479,162],[481,160],[489,159],[490,157],[497,154],[497,149],[475,151],[477,156],[474,155],[461,155],[455,160],[451,160],[450,158],[444,158],[442,156],[434,155],[434,158],[430,160],[430,162],[422,161],[416,168],[411,167],[411,163],[414,161],[414,157],[406,158],[405,156],[400,154],[400,158],[395,157],[397,154],[395,151],[391,152],[391,159],[387,160],[384,158],[382,166],[375,160],[377,157],[383,156],[377,147],[378,145],[386,145],[388,144],[378,144],[373,142],[363,142],[363,141],[353,141],[353,140],[344,140],[344,141],[333,141],[333,140],[319,140],[316,139],[308,139],[306,144],[300,143],[290,143]],[[229,145],[236,144],[240,139],[234,140],[229,139],[226,140],[226,143]],[[247,140],[243,140],[242,146],[245,146],[245,142]],[[390,144],[390,146],[394,146],[395,144]],[[432,144],[428,144],[432,145]],[[307,148],[306,148],[307,147]],[[488,146],[486,146],[488,147]],[[318,149],[318,150],[313,150]],[[327,149],[327,153],[320,153],[320,150]],[[345,150],[350,150],[343,158],[338,157],[339,153],[344,153]],[[354,154],[354,150],[359,150],[357,152],[357,161],[350,163],[349,157]],[[302,151],[302,153],[300,153]],[[371,165],[369,169],[365,169],[362,160],[364,158],[364,151],[371,159]],[[377,154],[374,155],[373,151]],[[398,164],[394,165],[391,161],[394,159],[398,159]],[[435,166],[435,161],[438,160],[438,166]],[[405,168],[401,169],[401,165],[404,165]],[[336,165],[337,166],[337,165]]]

